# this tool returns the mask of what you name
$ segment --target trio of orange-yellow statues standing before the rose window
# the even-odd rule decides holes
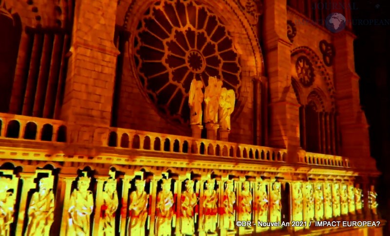
[[[219,124],[224,130],[230,130],[230,117],[234,110],[235,92],[233,89],[222,87],[223,83],[216,77],[209,77],[208,86],[204,87],[202,81],[193,80],[189,93],[190,123],[191,125]],[[202,103],[204,101],[204,114]]]

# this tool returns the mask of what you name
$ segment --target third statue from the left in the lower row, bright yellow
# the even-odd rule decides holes
[[[90,217],[94,210],[94,196],[88,190],[90,183],[91,178],[87,177],[87,172],[83,172],[78,179],[77,189],[70,196],[67,236],[90,235]]]

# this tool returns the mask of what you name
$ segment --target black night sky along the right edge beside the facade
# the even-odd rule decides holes
[[[355,0],[353,19],[390,21],[390,0]],[[378,181],[379,212],[390,222],[390,25],[354,25],[355,68],[360,99],[370,125],[371,155],[382,176]],[[337,52],[336,52],[337,56]],[[389,224],[384,235],[390,235]]]

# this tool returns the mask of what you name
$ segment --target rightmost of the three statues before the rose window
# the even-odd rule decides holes
[[[233,89],[222,88],[219,100],[218,120],[219,128],[230,130],[230,116],[233,113],[235,104],[235,93]]]

